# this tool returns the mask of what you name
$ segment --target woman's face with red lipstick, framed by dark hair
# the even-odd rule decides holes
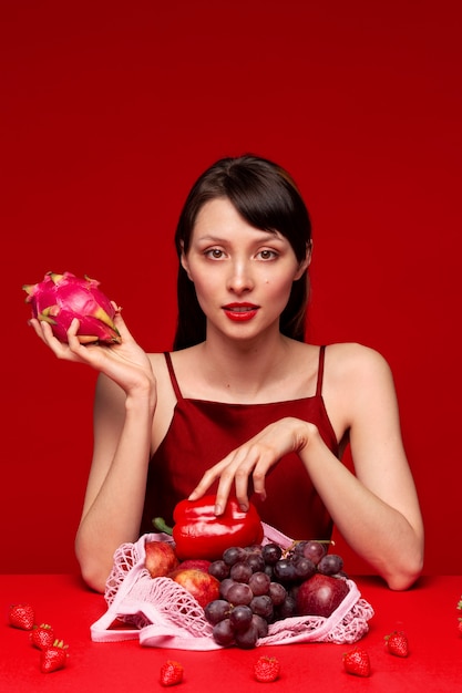
[[[300,265],[287,238],[250,226],[225,197],[202,207],[182,256],[207,332],[216,329],[234,339],[279,329],[291,285],[309,260],[308,254]]]

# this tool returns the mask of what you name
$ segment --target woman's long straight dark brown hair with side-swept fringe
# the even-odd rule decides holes
[[[299,262],[311,245],[311,223],[307,207],[289,174],[277,164],[253,154],[222,158],[207,168],[186,198],[175,234],[178,258],[187,252],[194,225],[205,203],[226,197],[240,216],[263,230],[277,230],[290,242]],[[308,302],[308,273],[294,281],[289,300],[280,316],[283,334],[305,340]],[[177,278],[178,323],[174,349],[193,346],[205,340],[205,314],[194,283],[179,263]]]

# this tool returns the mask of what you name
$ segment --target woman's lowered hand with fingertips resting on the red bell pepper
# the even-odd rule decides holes
[[[233,483],[242,509],[247,510],[249,479],[251,478],[254,492],[265,499],[265,478],[268,470],[284,455],[300,453],[315,436],[319,437],[318,428],[299,418],[287,417],[269,424],[247,443],[229,453],[222,462],[207,469],[191,494],[189,500],[201,498],[212,484],[219,479],[216,515],[224,511]]]

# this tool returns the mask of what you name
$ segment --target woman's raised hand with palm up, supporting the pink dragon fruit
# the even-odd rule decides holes
[[[68,330],[66,344],[54,337],[51,325],[47,322],[37,319],[30,321],[38,337],[58,359],[91,365],[113,380],[126,394],[137,389],[150,387],[154,383],[151,362],[130,333],[120,310],[116,312],[114,323],[122,342],[105,345],[82,344],[78,335],[80,323],[76,318]]]

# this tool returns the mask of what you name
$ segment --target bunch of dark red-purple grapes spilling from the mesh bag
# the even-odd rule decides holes
[[[297,592],[312,576],[346,577],[343,560],[327,552],[327,544],[297,541],[283,550],[277,544],[232,547],[208,572],[220,581],[219,598],[205,607],[214,640],[224,647],[256,647],[275,621],[299,616]]]

